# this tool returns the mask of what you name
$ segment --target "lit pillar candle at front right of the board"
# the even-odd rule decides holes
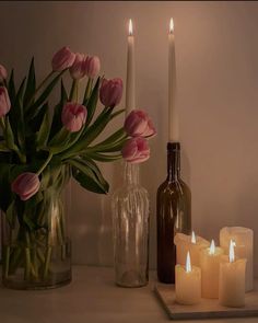
[[[230,255],[221,256],[219,301],[224,307],[245,305],[246,259],[235,259],[235,242],[230,241]]]

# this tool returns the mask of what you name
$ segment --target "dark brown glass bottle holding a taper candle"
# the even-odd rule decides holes
[[[177,232],[191,232],[191,193],[180,178],[180,143],[167,143],[167,177],[156,194],[157,278],[175,284]]]

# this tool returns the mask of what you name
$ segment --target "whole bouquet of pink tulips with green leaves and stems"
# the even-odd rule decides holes
[[[51,67],[51,72],[37,85],[32,59],[27,77],[16,88],[14,72],[8,80],[7,70],[0,66],[0,208],[11,228],[19,221],[15,243],[22,242],[27,247],[37,234],[50,230],[46,201],[49,192],[60,195],[67,178],[73,176],[85,189],[106,194],[108,183],[97,162],[112,162],[121,157],[128,162],[145,161],[150,157],[146,138],[155,134],[148,115],[133,111],[124,126],[96,142],[107,124],[124,113],[116,109],[122,96],[121,79],[97,77],[99,59],[74,54],[68,47],[55,54]],[[69,92],[61,79],[66,71],[72,79]],[[83,97],[79,97],[84,77],[87,83]],[[49,95],[58,83],[60,100],[50,109]],[[98,97],[104,107],[97,114]],[[61,222],[60,219],[56,227],[59,240],[63,241]],[[46,241],[49,245],[50,240]],[[42,255],[35,256],[42,262],[40,270],[32,255],[25,253],[26,259],[20,264],[26,266],[27,279],[47,277],[48,252],[46,247]],[[7,277],[10,270],[15,272],[17,258],[15,252],[5,249]]]

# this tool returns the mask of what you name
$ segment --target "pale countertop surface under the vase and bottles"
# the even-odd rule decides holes
[[[155,275],[152,274],[154,277]],[[159,323],[169,322],[148,287],[120,288],[113,268],[75,266],[70,285],[46,291],[20,291],[0,287],[1,323]],[[183,321],[178,321],[183,322]],[[184,321],[190,322],[190,321]],[[204,323],[207,321],[194,321]],[[212,320],[212,323],[257,323],[258,318]]]

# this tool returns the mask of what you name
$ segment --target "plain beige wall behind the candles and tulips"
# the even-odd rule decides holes
[[[223,226],[246,226],[255,230],[257,243],[257,2],[1,2],[0,12],[0,61],[15,66],[19,74],[35,54],[43,76],[52,53],[69,45],[98,55],[106,76],[124,80],[126,23],[133,19],[137,103],[149,111],[159,132],[152,158],[142,166],[152,207],[152,266],[155,192],[166,172],[167,26],[173,16],[183,175],[192,192],[194,228],[218,239]],[[114,188],[119,163],[103,170]],[[112,264],[109,196],[73,184],[70,218],[74,262]]]

